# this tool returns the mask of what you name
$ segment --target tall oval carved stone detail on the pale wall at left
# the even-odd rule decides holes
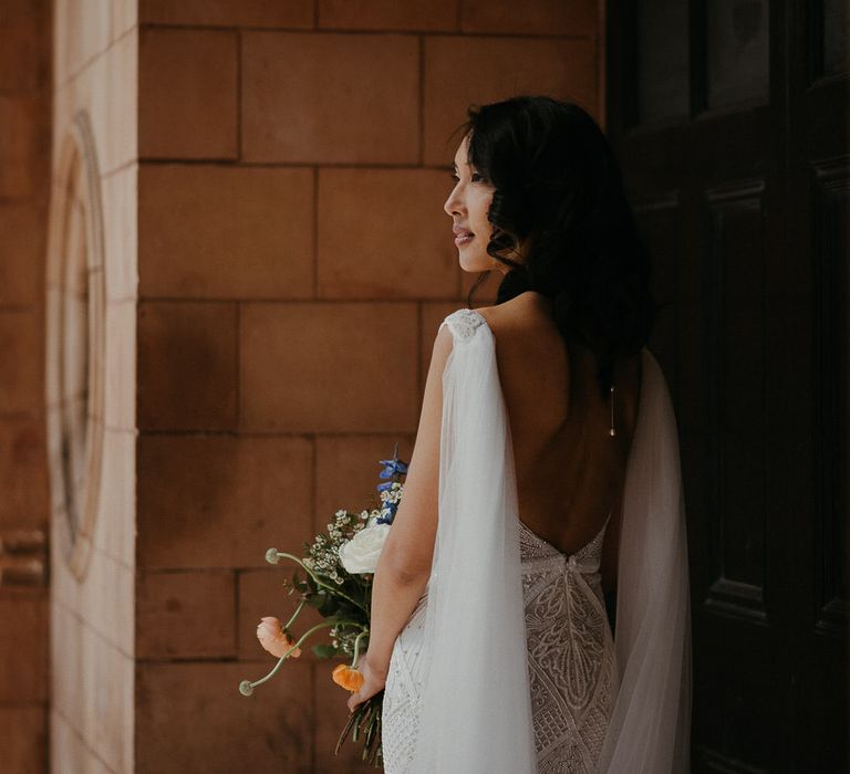
[[[51,198],[46,416],[52,517],[82,579],[97,513],[104,437],[104,241],[100,171],[89,116],[65,136]]]

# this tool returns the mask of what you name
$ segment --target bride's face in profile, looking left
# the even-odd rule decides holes
[[[487,220],[487,210],[496,188],[467,163],[468,142],[468,136],[464,137],[455,154],[453,176],[456,184],[443,209],[454,221],[460,268],[467,272],[498,269],[505,273],[508,266],[487,253],[487,242],[493,231]]]

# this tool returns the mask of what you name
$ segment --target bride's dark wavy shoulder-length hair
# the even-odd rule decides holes
[[[640,352],[660,308],[608,139],[583,108],[548,96],[470,105],[467,116],[453,136],[469,136],[467,160],[495,187],[487,252],[510,266],[496,303],[529,290],[549,297],[564,339],[594,353],[604,398],[614,362]],[[510,258],[524,242],[525,261]]]

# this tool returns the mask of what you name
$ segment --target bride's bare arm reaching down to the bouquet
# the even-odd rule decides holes
[[[439,501],[443,372],[450,353],[452,332],[446,325],[434,341],[404,493],[373,578],[372,621],[364,659],[376,678],[386,677],[393,645],[422,597],[431,575]],[[351,699],[356,704],[367,698],[354,694]]]

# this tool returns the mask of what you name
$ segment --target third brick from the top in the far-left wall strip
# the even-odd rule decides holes
[[[41,303],[45,234],[40,205],[0,205],[0,307]]]

